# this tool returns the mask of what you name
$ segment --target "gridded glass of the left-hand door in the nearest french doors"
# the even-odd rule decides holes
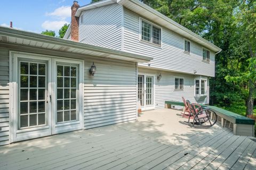
[[[19,62],[19,129],[46,125],[45,63]]]

